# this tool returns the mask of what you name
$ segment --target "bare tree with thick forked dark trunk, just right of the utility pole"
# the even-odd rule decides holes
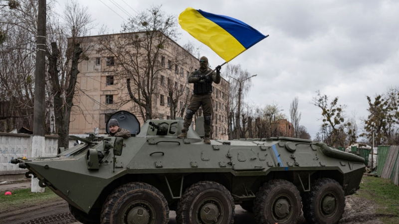
[[[91,48],[84,36],[94,28],[88,8],[77,1],[67,2],[63,13],[64,24],[52,27],[48,35],[51,52],[48,50],[48,90],[50,102],[54,102],[55,127],[58,133],[58,147],[68,147],[69,122],[75,96],[78,64],[87,59],[84,52]],[[51,105],[51,103],[50,103]],[[50,110],[51,111],[51,110]],[[50,120],[51,120],[50,113]]]

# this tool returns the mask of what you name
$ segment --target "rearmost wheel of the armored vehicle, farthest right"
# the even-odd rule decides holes
[[[310,192],[304,193],[303,216],[308,224],[336,224],[344,209],[344,190],[333,179],[318,179],[311,185]]]

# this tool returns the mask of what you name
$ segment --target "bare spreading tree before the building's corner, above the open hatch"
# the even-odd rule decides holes
[[[171,43],[178,36],[177,19],[161,11],[161,6],[152,6],[129,18],[122,27],[124,33],[100,39],[98,52],[114,57],[115,77],[126,81],[129,99],[124,104],[133,103],[132,109],[137,109],[143,119],[151,119],[155,80],[162,71],[172,69],[162,66],[161,59],[172,50]]]

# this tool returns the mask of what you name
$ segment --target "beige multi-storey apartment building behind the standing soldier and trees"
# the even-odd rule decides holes
[[[143,112],[138,104],[132,101],[130,95],[132,93],[135,98],[143,97],[139,96],[139,88],[135,86],[135,81],[130,81],[129,93],[126,72],[124,73],[121,67],[122,59],[115,53],[104,50],[106,47],[101,42],[104,39],[107,41],[118,39],[121,35],[125,34],[90,36],[85,39],[85,44],[90,48],[85,53],[87,60],[83,60],[78,66],[80,73],[73,101],[75,107],[70,118],[70,134],[93,131],[104,134],[106,121],[112,113],[120,110],[132,112],[143,124],[145,119]],[[110,45],[112,47],[112,44]],[[115,44],[114,47],[117,48]],[[124,47],[132,51],[134,49],[129,45]],[[153,119],[184,116],[193,93],[193,84],[189,84],[187,80],[190,73],[199,67],[198,58],[169,39],[168,47],[160,49],[155,63],[158,64],[157,71],[154,73],[151,101]],[[228,139],[227,109],[224,105],[228,102],[230,86],[223,78],[220,84],[212,85],[214,104],[212,138]]]

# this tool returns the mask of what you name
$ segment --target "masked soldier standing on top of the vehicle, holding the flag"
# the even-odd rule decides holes
[[[210,144],[209,135],[212,125],[211,115],[213,113],[212,82],[215,84],[220,83],[220,68],[220,66],[217,66],[216,73],[210,73],[211,71],[208,70],[208,59],[205,56],[202,56],[200,58],[200,69],[196,69],[196,71],[190,74],[189,83],[194,83],[194,94],[187,109],[182,133],[178,136],[179,138],[187,137],[187,131],[189,130],[190,124],[193,120],[193,115],[197,112],[200,106],[202,106],[204,117],[203,129],[205,131],[203,142],[205,142],[205,144]]]

